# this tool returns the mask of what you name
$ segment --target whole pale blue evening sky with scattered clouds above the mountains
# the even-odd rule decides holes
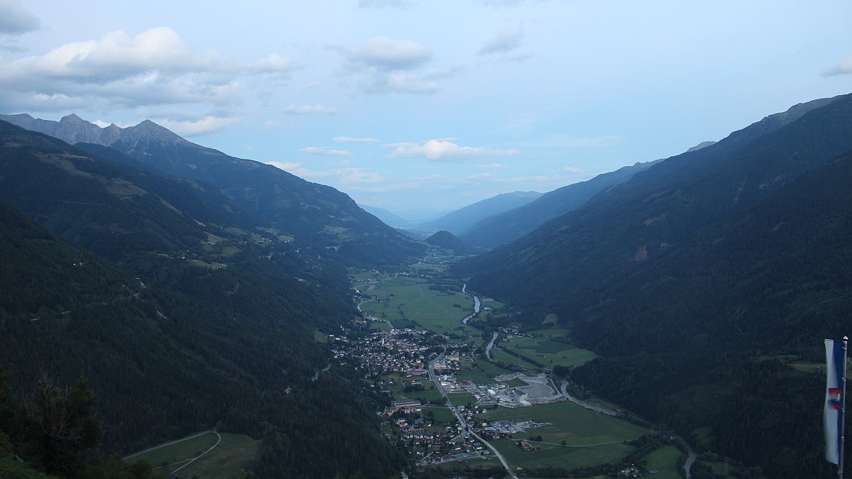
[[[852,92],[852,3],[0,0],[0,113],[151,119],[396,213],[545,193]]]

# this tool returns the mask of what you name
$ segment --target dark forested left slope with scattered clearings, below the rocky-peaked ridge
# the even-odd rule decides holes
[[[60,384],[89,378],[107,452],[216,426],[264,440],[264,476],[404,467],[376,432],[376,400],[354,378],[331,369],[314,380],[329,358],[314,330],[355,314],[333,251],[227,223],[227,208],[193,196],[197,183],[134,172],[9,124],[0,162],[0,194],[124,268],[3,204],[0,363],[12,364],[17,394],[42,373]]]

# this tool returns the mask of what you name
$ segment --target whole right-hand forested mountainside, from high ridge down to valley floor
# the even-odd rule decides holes
[[[807,110],[807,111],[805,111]],[[794,107],[462,263],[469,286],[604,357],[597,395],[769,477],[822,458],[822,338],[852,313],[852,98]],[[773,441],[766,441],[772,437]]]

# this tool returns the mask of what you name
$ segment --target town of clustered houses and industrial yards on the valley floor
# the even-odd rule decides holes
[[[384,435],[406,447],[421,465],[489,457],[494,451],[487,440],[524,435],[542,425],[531,420],[489,421],[487,413],[497,407],[565,401],[544,374],[501,375],[489,384],[460,380],[456,373],[474,361],[479,342],[454,343],[446,335],[409,328],[361,335],[348,331],[329,340],[337,360],[356,360],[369,388],[388,398],[389,405],[377,412],[387,419]],[[523,385],[509,386],[512,380]],[[469,401],[454,405],[455,397]],[[517,444],[521,450],[533,449],[527,441]]]

